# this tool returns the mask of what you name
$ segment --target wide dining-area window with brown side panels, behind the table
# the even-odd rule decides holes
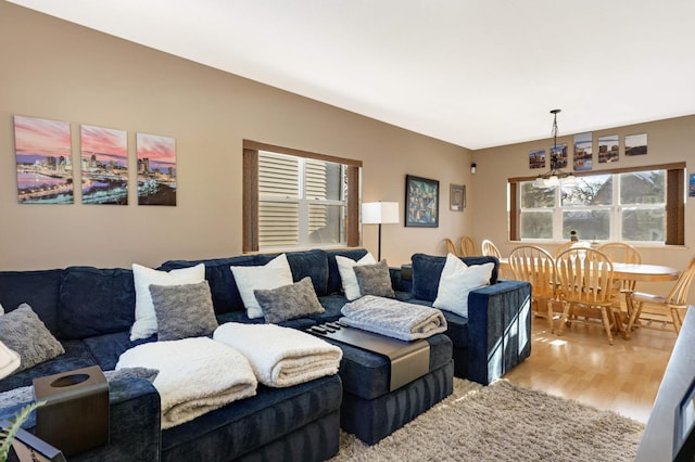
[[[684,169],[658,167],[582,175],[576,185],[546,189],[511,179],[510,236],[561,241],[577,230],[582,240],[683,244]]]

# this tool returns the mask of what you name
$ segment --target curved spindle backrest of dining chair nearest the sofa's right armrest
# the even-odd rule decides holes
[[[509,254],[514,278],[531,284],[534,297],[553,296],[553,256],[535,245],[520,245]]]

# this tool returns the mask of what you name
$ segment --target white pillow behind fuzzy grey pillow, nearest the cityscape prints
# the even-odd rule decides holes
[[[135,279],[135,323],[130,329],[130,341],[137,341],[138,338],[148,338],[156,334],[157,331],[150,285],[198,284],[205,280],[205,265],[159,271],[132,264],[132,278]]]

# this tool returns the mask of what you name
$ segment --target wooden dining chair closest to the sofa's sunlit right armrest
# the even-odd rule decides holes
[[[555,283],[553,256],[535,245],[520,245],[509,254],[514,278],[531,284],[534,315],[547,318],[551,332],[555,331]]]

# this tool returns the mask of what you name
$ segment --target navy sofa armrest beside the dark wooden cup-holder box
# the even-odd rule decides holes
[[[109,383],[109,444],[71,457],[73,461],[159,461],[162,444],[160,395],[144,378]]]

